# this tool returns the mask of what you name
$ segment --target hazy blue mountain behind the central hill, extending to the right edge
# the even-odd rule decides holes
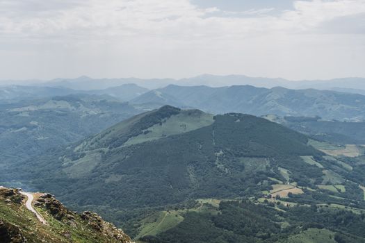
[[[161,99],[169,97],[169,99]],[[266,89],[250,85],[230,87],[169,85],[131,100],[132,103],[160,103],[193,107],[222,114],[241,112],[252,115],[321,116],[325,119],[363,120],[365,97],[324,90]]]

